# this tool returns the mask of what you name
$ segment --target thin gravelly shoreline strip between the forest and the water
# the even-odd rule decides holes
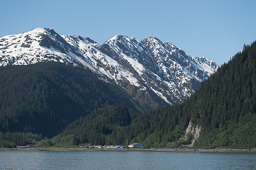
[[[0,151],[154,151],[154,152],[256,152],[256,148],[0,148]]]

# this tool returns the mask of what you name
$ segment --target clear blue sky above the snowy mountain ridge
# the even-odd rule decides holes
[[[218,65],[256,40],[256,1],[0,1],[0,37],[34,28],[90,37],[156,36]]]

